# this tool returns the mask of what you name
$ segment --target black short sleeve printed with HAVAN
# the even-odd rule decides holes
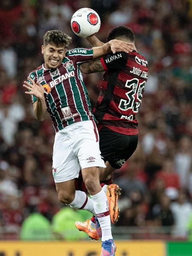
[[[107,70],[122,70],[128,61],[128,54],[126,52],[116,52],[114,54],[109,54],[100,59],[101,63]]]

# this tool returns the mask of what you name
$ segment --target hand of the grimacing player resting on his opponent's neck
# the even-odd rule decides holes
[[[134,50],[134,44],[129,42],[124,42],[121,40],[113,39],[108,42],[108,44],[111,46],[111,52],[116,53],[119,51],[123,52],[132,52]]]

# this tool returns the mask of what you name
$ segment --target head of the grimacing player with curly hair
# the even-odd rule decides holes
[[[50,30],[44,35],[42,53],[46,68],[57,68],[65,57],[66,49],[71,37],[60,30]]]

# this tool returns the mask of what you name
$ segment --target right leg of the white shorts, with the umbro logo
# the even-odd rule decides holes
[[[105,167],[99,150],[99,134],[94,121],[79,122],[73,131],[73,151],[78,156],[81,169]]]

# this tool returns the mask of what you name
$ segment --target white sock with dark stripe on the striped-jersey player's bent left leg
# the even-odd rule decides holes
[[[93,213],[93,215],[96,215],[93,207],[93,200],[90,199],[85,192],[80,190],[76,190],[76,195],[73,202],[67,205],[76,209],[87,210],[88,212]]]

